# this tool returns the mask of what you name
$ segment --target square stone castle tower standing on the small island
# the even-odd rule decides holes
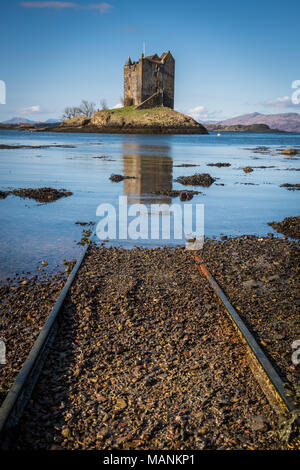
[[[124,66],[124,106],[174,108],[175,60],[170,51],[138,62],[128,57]]]

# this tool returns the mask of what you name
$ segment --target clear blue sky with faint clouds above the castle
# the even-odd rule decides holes
[[[130,55],[170,50],[175,108],[200,120],[300,112],[300,2],[1,0],[0,121],[60,117],[82,99],[120,103]]]

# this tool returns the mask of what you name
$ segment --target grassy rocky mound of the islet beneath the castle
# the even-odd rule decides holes
[[[97,111],[92,118],[76,117],[54,129],[60,132],[132,134],[208,134],[202,124],[171,108],[125,108]]]

